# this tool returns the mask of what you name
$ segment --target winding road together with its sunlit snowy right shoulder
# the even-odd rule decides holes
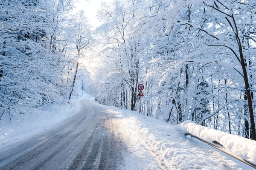
[[[78,102],[69,119],[0,147],[1,169],[252,169],[168,123],[92,99]]]

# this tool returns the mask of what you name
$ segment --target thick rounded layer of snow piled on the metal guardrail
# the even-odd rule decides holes
[[[256,141],[196,125],[192,121],[185,121],[175,127],[177,127],[177,130],[191,133],[207,142],[219,142],[228,152],[254,164],[256,163]]]

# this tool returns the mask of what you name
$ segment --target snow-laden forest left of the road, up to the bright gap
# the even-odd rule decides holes
[[[1,0],[0,7],[0,118],[68,102],[81,49],[93,41],[84,12],[70,14],[72,0]]]

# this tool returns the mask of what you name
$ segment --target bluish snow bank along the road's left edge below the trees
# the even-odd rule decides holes
[[[12,123],[9,117],[3,116],[0,121],[0,147],[39,133],[75,115],[81,108],[78,100],[72,99],[70,105],[50,104],[34,112],[16,113]]]

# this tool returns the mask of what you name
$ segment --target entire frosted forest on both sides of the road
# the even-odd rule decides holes
[[[0,5],[0,118],[82,88],[170,125],[193,120],[256,140],[255,0],[113,0],[94,32],[83,11],[70,13],[72,0]],[[100,61],[89,78],[79,62],[88,49]]]

